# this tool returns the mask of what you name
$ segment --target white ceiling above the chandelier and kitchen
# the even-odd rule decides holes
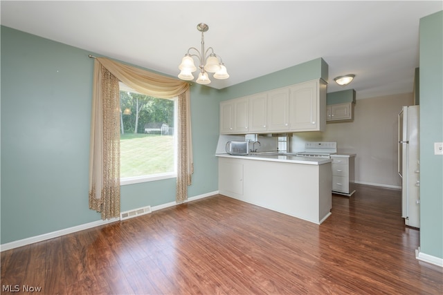
[[[211,87],[323,57],[327,92],[354,88],[363,99],[413,91],[419,19],[442,9],[442,1],[1,1],[1,24],[177,77],[204,22],[206,47],[230,74]],[[349,73],[349,86],[334,83]]]

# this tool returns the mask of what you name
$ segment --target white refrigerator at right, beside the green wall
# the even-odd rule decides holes
[[[398,171],[401,177],[401,217],[420,227],[419,106],[403,106],[399,113]]]

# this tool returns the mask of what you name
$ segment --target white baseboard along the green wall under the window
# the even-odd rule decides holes
[[[213,191],[211,193],[204,193],[204,194],[199,195],[199,196],[190,197],[185,202],[190,202],[190,201],[193,201],[193,200],[199,200],[199,199],[202,199],[202,198],[207,198],[209,196],[216,195],[217,193],[218,193],[218,191]],[[175,205],[177,205],[177,202],[169,202],[169,203],[166,203],[166,204],[161,204],[161,205],[152,207],[152,211],[160,210],[160,209],[167,208],[167,207],[172,207],[172,206],[175,206]],[[75,227],[69,227],[67,229],[60,229],[59,231],[53,231],[53,232],[48,233],[48,234],[42,234],[42,235],[39,235],[39,236],[33,236],[33,237],[30,237],[30,238],[24,238],[23,240],[15,240],[14,242],[7,242],[6,244],[0,245],[0,251],[6,251],[6,250],[10,250],[10,249],[14,249],[14,248],[30,245],[30,244],[33,244],[35,242],[42,242],[43,240],[49,240],[51,238],[58,238],[60,236],[64,236],[64,235],[67,235],[67,234],[73,234],[76,231],[82,231],[84,229],[91,229],[92,227],[100,227],[100,225],[107,225],[108,223],[116,222],[116,221],[119,221],[119,220],[120,220],[120,218],[112,218],[112,219],[109,219],[109,220],[97,220],[97,221],[85,223],[84,225],[77,225]]]

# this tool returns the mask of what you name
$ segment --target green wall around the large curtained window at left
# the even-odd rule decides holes
[[[1,244],[100,220],[88,208],[89,54],[1,26]],[[191,113],[190,197],[218,189],[217,91],[193,85]],[[173,202],[175,179],[121,193],[122,211]]]

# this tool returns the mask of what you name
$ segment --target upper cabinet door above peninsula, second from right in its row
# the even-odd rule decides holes
[[[268,93],[268,131],[289,129],[289,88]]]

